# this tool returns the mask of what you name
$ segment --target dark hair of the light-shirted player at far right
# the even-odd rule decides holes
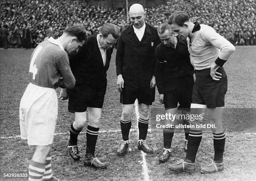
[[[175,11],[172,13],[168,19],[168,24],[177,24],[183,26],[186,21],[189,20],[189,15],[184,11]]]

